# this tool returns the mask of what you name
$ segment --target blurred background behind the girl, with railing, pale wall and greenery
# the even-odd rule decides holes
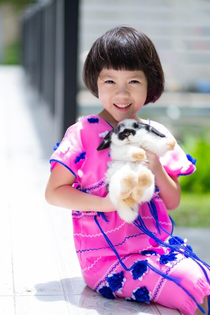
[[[36,112],[35,124],[50,156],[69,125],[101,110],[83,84],[82,68],[92,43],[119,24],[152,39],[165,72],[164,94],[141,117],[166,125],[197,159],[197,171],[180,179],[181,205],[171,215],[179,226],[209,227],[209,0],[0,0],[0,68],[24,73],[45,111]]]

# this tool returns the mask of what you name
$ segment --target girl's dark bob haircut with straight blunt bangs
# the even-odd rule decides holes
[[[164,90],[164,73],[152,41],[132,27],[117,26],[104,33],[92,45],[83,68],[83,80],[98,97],[97,80],[103,68],[142,70],[148,81],[145,105],[154,103]]]

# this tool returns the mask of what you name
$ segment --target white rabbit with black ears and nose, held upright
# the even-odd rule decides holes
[[[122,220],[131,223],[138,205],[152,199],[155,176],[147,168],[144,149],[162,156],[172,150],[175,138],[134,119],[124,119],[104,137],[97,150],[110,147],[111,162],[106,172],[109,197]]]

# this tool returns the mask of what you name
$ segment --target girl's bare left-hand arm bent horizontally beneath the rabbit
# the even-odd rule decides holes
[[[56,164],[52,170],[46,191],[46,201],[54,206],[76,211],[115,211],[109,196],[102,198],[79,191],[72,187],[75,176],[61,164]]]

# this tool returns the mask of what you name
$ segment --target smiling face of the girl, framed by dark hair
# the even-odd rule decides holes
[[[147,78],[143,71],[102,69],[97,81],[99,100],[109,123],[136,119],[147,98]],[[103,112],[104,112],[103,110]]]

